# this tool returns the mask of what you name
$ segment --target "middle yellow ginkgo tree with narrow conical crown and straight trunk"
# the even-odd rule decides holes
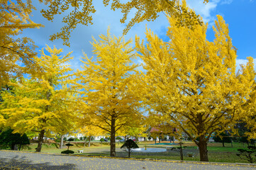
[[[77,106],[82,121],[110,133],[111,156],[116,156],[116,131],[140,116],[138,95],[131,89],[138,65],[132,62],[131,40],[111,36],[109,30],[100,38],[91,43],[96,61],[83,57],[74,88],[80,94]]]

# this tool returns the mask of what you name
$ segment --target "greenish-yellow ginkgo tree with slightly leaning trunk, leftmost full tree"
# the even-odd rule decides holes
[[[13,91],[2,94],[1,103],[1,114],[7,118],[5,125],[13,132],[39,134],[36,152],[40,152],[45,135],[69,132],[74,126],[74,98],[67,88],[67,72],[72,70],[67,62],[72,57],[70,52],[61,56],[62,49],[55,47],[45,50],[41,50],[41,57],[34,57],[42,72],[19,83],[10,83]]]

